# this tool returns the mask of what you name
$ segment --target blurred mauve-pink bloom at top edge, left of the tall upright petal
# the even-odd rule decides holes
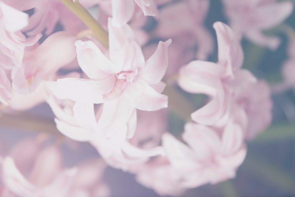
[[[181,35],[190,46],[197,45],[197,59],[207,59],[213,52],[212,36],[203,25],[208,9],[207,0],[186,0],[165,6],[160,10],[157,35],[163,38]]]

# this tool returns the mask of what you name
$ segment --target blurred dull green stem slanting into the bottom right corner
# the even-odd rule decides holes
[[[276,185],[283,191],[290,192],[295,195],[294,177],[282,168],[272,165],[271,162],[248,155],[242,167],[248,168],[251,172],[255,172],[258,177]]]

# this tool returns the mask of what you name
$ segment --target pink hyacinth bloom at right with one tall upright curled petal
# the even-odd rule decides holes
[[[245,136],[253,138],[271,122],[272,103],[269,87],[263,85],[263,82],[258,82],[249,71],[241,69],[242,47],[230,27],[216,22],[214,28],[217,32],[218,62],[190,62],[180,69],[178,84],[187,92],[203,93],[211,97],[207,105],[191,114],[194,121],[224,127],[232,116],[231,113],[239,110],[238,116],[244,114],[240,119],[243,122],[241,124],[245,125]],[[257,91],[266,93],[257,96],[256,87],[259,87]],[[260,110],[255,110],[257,106],[261,107]],[[255,114],[261,118],[259,123],[255,123]]]

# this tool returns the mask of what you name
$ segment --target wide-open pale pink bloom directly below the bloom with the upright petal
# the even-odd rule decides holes
[[[187,123],[184,144],[171,134],[164,134],[163,147],[183,188],[216,184],[234,178],[245,159],[242,128],[229,121],[222,136],[214,129]]]

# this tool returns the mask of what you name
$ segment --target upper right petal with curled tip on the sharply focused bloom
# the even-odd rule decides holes
[[[168,66],[168,46],[172,40],[159,42],[155,53],[145,62],[145,67],[140,73],[140,77],[148,84],[156,84],[163,78]]]

